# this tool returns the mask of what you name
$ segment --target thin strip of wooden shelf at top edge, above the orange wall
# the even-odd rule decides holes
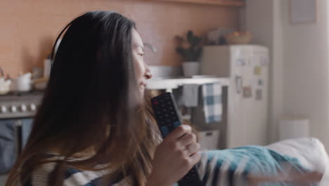
[[[203,4],[217,6],[245,6],[244,1],[222,1],[222,0],[148,0],[148,1],[163,1],[188,4]]]

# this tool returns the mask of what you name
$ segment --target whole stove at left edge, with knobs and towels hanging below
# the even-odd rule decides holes
[[[25,147],[42,92],[11,93],[0,96],[0,175],[10,171]],[[3,185],[0,177],[0,185]]]

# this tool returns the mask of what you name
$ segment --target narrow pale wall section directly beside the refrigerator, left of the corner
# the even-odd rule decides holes
[[[254,35],[253,43],[269,47],[269,142],[278,140],[278,121],[283,111],[283,47],[280,1],[247,0],[242,11],[245,29]],[[244,23],[243,21],[241,21]]]

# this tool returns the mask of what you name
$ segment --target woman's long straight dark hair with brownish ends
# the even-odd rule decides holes
[[[135,23],[119,13],[91,11],[60,32],[56,42],[63,39],[53,55],[44,98],[7,186],[18,178],[25,182],[37,166],[54,161],[46,155],[51,151],[71,157],[86,149],[93,153],[83,160],[55,160],[52,185],[61,185],[60,170],[67,166],[110,168],[131,175],[135,185],[145,184],[157,144],[152,136],[158,131],[136,83],[134,28]],[[100,164],[105,166],[96,168]]]

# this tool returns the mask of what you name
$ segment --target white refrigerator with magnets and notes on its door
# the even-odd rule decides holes
[[[204,46],[201,71],[230,79],[226,147],[266,144],[269,50],[259,45]]]

